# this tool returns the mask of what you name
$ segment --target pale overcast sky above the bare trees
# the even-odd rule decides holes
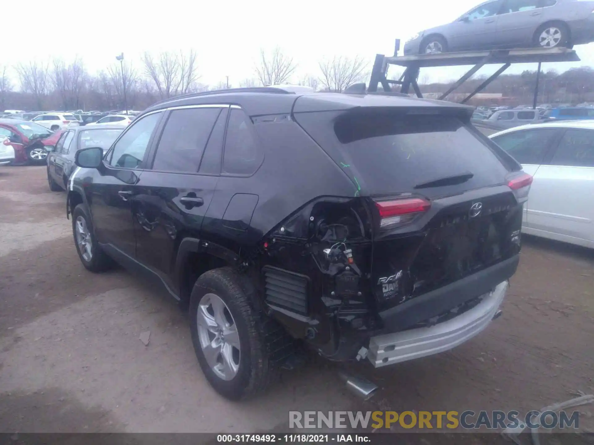
[[[26,3],[26,7],[25,7]],[[49,4],[40,0],[2,2],[0,64],[31,59],[83,57],[94,73],[124,52],[139,71],[145,52],[188,50],[198,53],[200,82],[225,81],[238,86],[254,77],[260,48],[279,46],[298,63],[293,80],[319,75],[318,61],[333,55],[364,56],[369,69],[376,53],[392,55],[394,39],[453,21],[480,0],[391,0],[296,2],[263,1],[75,1]],[[14,19],[14,20],[13,20]],[[594,44],[576,46],[582,62],[546,63],[544,69],[565,71],[594,66]],[[516,65],[507,72],[535,69]],[[393,67],[392,69],[395,69]],[[431,81],[447,81],[468,68],[431,68],[421,72]],[[484,67],[478,74],[494,72]],[[388,74],[389,75],[389,74]]]

